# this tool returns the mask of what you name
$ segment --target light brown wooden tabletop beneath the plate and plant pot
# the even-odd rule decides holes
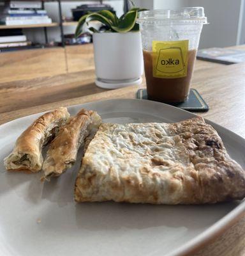
[[[86,46],[86,51],[87,49]],[[58,75],[56,73],[53,76],[48,74],[34,79],[0,83],[0,124],[59,106],[105,99],[135,98],[138,86],[117,90],[96,87],[91,54],[82,56],[84,59],[81,58],[80,65],[84,70],[80,72]],[[79,62],[76,63],[78,65]],[[4,67],[0,65],[0,74],[1,68]],[[8,72],[14,74],[15,71],[8,70]],[[141,87],[144,86],[143,83]],[[207,113],[199,113],[199,115],[245,138],[245,63],[221,65],[199,60],[195,65],[192,87],[200,92],[210,107]],[[195,255],[245,255],[244,241],[245,217]]]

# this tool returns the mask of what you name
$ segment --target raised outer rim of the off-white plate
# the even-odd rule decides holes
[[[193,116],[193,117],[198,116],[195,113],[190,113],[189,111],[177,108],[175,106],[171,106],[171,105],[168,105],[168,104],[165,104],[165,103],[162,103],[162,102],[155,102],[155,101],[152,101],[152,100],[144,100],[144,99],[98,100],[98,101],[93,101],[93,102],[84,102],[82,104],[70,105],[70,106],[66,106],[66,108],[68,108],[68,109],[73,108],[73,107],[86,108],[86,106],[89,106],[91,104],[107,104],[107,102],[116,102],[116,103],[118,103],[119,101],[120,102],[124,102],[124,101],[126,101],[126,102],[129,102],[129,101],[130,102],[145,102],[145,103],[147,102],[146,104],[153,104],[153,105],[159,105],[159,106],[161,105],[161,106],[165,106],[165,108],[169,108],[169,109],[174,108],[176,111],[188,114],[189,116]],[[29,118],[29,117],[35,116],[35,115],[41,115],[41,114],[46,113],[48,111],[50,111],[50,110],[39,112],[39,113],[34,113],[34,114],[31,114],[31,115],[26,115],[26,116],[16,118],[14,120],[10,120],[9,122],[1,124],[0,129],[1,129],[1,127],[4,127],[6,125],[11,125],[11,123],[16,122],[19,119]],[[223,127],[222,125],[216,124],[215,122],[212,122],[207,118],[204,118],[204,119],[208,124],[211,124],[212,126],[214,126],[215,129],[216,129],[216,127],[218,129],[224,129],[225,132],[232,133],[233,136],[235,136],[239,140],[243,140],[244,143],[245,143],[245,138],[242,138],[241,136],[239,136],[239,134],[236,134],[235,132],[230,131],[229,129]],[[228,230],[228,228],[230,228],[232,225],[237,223],[237,221],[239,221],[242,218],[242,216],[244,216],[244,212],[245,212],[245,200],[242,200],[241,204],[237,205],[237,207],[232,209],[232,211],[228,212],[228,214],[226,214],[221,219],[216,221],[216,223],[211,225],[211,227],[207,228],[206,230],[204,230],[204,232],[201,232],[200,234],[198,234],[197,237],[189,240],[186,244],[180,246],[179,248],[177,248],[173,252],[168,253],[167,256],[185,256],[185,255],[190,255],[190,253],[197,252],[198,250],[202,249],[206,244],[211,243],[211,241],[214,241],[214,239],[221,236],[222,232],[225,232],[226,230]]]

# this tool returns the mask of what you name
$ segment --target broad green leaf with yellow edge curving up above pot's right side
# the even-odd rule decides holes
[[[135,26],[135,22],[138,16],[138,12],[137,11],[130,11],[125,13],[124,17],[121,19],[119,19],[119,24],[118,26],[111,26],[112,29],[114,29],[115,31],[119,32],[119,33],[126,33],[128,31],[130,31],[134,26]]]

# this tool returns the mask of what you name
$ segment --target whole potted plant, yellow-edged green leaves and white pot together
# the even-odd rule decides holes
[[[84,24],[93,32],[94,65],[96,85],[115,89],[142,82],[143,56],[138,24],[138,12],[144,9],[133,7],[121,17],[108,10],[88,13],[78,21],[75,36],[83,32]],[[91,21],[103,25],[100,31]]]

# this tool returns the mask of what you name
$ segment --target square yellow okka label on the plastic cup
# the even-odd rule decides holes
[[[188,43],[182,41],[152,41],[153,77],[185,77],[188,65]]]

